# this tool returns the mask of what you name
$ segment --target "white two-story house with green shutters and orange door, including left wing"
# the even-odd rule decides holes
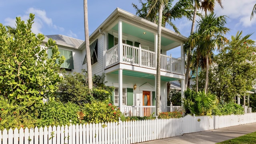
[[[157,24],[120,8],[90,35],[92,74],[105,74],[106,85],[115,87],[113,104],[126,115],[149,116],[156,111],[157,35]],[[184,92],[183,44],[187,38],[167,28],[162,28],[161,37],[160,110],[165,112],[167,82],[180,80]],[[60,51],[70,56],[63,68],[71,72],[87,69],[85,42],[62,35],[46,38],[56,40]],[[179,59],[166,55],[173,48],[180,48]]]

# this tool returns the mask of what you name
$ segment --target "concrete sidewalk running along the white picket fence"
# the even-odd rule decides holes
[[[256,123],[183,134],[182,136],[141,142],[139,144],[216,144],[252,132],[256,132]]]

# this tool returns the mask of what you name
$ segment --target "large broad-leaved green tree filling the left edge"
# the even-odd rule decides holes
[[[14,30],[0,24],[0,94],[26,106],[42,102],[43,97],[58,89],[62,80],[58,70],[64,62],[52,39],[45,44],[46,48],[40,46],[44,35],[36,36],[31,31],[33,20],[34,14],[26,23],[16,18]],[[48,48],[52,48],[51,58],[46,52]]]

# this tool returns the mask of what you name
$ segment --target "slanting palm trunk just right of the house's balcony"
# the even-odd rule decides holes
[[[195,22],[196,22],[196,9],[197,9],[197,4],[195,2],[194,5],[194,15],[193,15],[193,20],[192,20],[192,26],[191,26],[191,32],[190,34],[192,34],[194,32],[194,28],[195,28]],[[185,90],[188,87],[188,79],[189,79],[189,74],[190,74],[190,57],[191,57],[191,48],[189,48],[188,50],[188,56],[187,56],[187,69],[186,69],[186,75],[185,75]]]

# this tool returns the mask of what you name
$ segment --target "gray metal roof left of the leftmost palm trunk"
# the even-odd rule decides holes
[[[79,46],[84,42],[84,40],[78,40],[76,38],[63,36],[61,34],[46,35],[44,38],[44,42],[47,42],[49,38],[52,38],[53,40],[55,40],[56,44],[58,45],[67,46],[67,47],[76,48],[76,49],[78,49]]]

